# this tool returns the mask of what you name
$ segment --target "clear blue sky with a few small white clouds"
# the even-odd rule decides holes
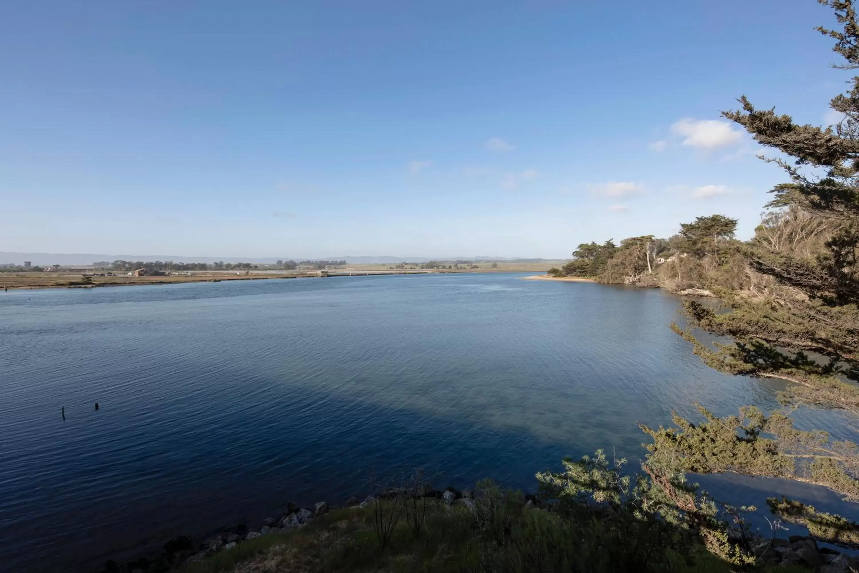
[[[563,258],[785,179],[719,112],[821,124],[814,0],[0,7],[0,251]]]

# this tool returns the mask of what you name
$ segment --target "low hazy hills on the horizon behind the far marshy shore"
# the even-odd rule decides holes
[[[393,257],[386,255],[368,255],[368,256],[356,256],[356,257],[265,257],[265,258],[252,258],[252,257],[188,257],[184,255],[176,255],[176,254],[103,254],[103,253],[8,253],[4,251],[0,251],[0,265],[15,263],[16,265],[21,265],[25,260],[32,262],[34,265],[92,265],[96,261],[113,261],[117,259],[122,260],[143,260],[143,261],[153,261],[153,260],[172,260],[176,263],[214,263],[216,261],[223,261],[225,263],[257,263],[257,264],[271,264],[276,262],[278,259],[283,260],[306,260],[306,259],[325,259],[325,260],[346,260],[347,262],[354,265],[369,265],[372,263],[380,263],[380,264],[391,264],[391,263],[425,263],[429,260],[439,260],[439,261],[448,261],[448,260],[473,260],[473,261],[504,261],[509,263],[540,263],[546,260],[554,260],[554,259],[511,259],[509,257],[487,257],[487,256],[478,256],[478,257],[466,257],[466,256],[457,256],[457,257]]]

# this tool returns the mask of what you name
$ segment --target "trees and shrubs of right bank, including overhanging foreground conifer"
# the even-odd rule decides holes
[[[843,26],[817,28],[835,40],[834,50],[845,60],[837,67],[859,69],[853,0],[819,2],[830,6]],[[686,301],[688,326],[673,324],[674,332],[714,369],[787,382],[779,395],[784,407],[776,411],[746,405],[720,418],[698,405],[698,421],[675,414],[669,427],[641,425],[653,441],[643,474],[632,483],[650,495],[657,491],[658,513],[696,531],[704,546],[735,570],[755,570],[762,562],[756,561],[752,539],[732,532],[731,524],[742,522],[742,509],[724,506],[724,515],[716,515],[712,500],[684,476],[738,472],[797,479],[859,503],[856,443],[797,429],[791,417],[803,407],[838,412],[848,425],[859,422],[859,76],[850,80],[846,94],[830,101],[842,117],[837,125],[798,125],[774,108],[754,107],[745,96],[739,102],[739,110],[723,117],[780,151],[785,159],[767,161],[788,175],[771,190],[769,210],[752,240],[735,239],[735,219],[700,216],[668,239],[644,235],[619,245],[582,243],[568,264],[551,272],[674,291],[710,290],[719,307]],[[732,342],[703,342],[693,328]],[[543,478],[557,491],[576,494],[588,490],[583,483],[617,483],[618,474],[606,474],[605,463],[596,468],[588,463],[565,462],[566,472]],[[606,490],[590,490],[597,501],[606,498]],[[782,521],[807,527],[814,539],[859,548],[854,521],[785,497],[771,497],[767,504]]]

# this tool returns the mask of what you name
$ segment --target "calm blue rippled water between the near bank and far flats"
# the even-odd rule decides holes
[[[636,463],[635,422],[672,408],[776,407],[776,384],[698,363],[667,328],[678,305],[514,274],[0,293],[0,570],[92,569],[404,466],[533,490],[564,455]],[[736,503],[838,505],[703,481]]]

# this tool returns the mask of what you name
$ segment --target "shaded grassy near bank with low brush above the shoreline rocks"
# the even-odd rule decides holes
[[[390,510],[390,503],[385,502]],[[599,520],[579,522],[560,515],[500,504],[484,515],[463,505],[428,504],[417,539],[401,519],[384,551],[372,508],[335,509],[307,527],[240,543],[204,561],[186,564],[186,573],[275,573],[277,571],[673,571],[722,573],[730,570],[701,546],[689,561],[668,552],[662,564],[636,567],[631,539],[606,534]],[[490,515],[491,514],[491,515]],[[618,569],[619,568],[619,569]],[[802,568],[773,568],[781,573]]]

